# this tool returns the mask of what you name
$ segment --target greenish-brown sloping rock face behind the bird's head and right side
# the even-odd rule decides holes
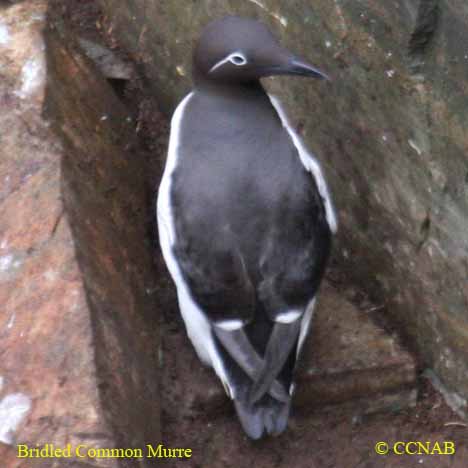
[[[466,2],[100,3],[168,112],[190,87],[194,38],[226,14],[260,18],[333,77],[266,84],[326,172],[340,221],[334,263],[385,305],[466,412]]]

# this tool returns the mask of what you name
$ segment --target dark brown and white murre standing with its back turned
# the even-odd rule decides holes
[[[199,358],[251,439],[288,425],[337,218],[320,164],[261,79],[329,80],[262,22],[210,22],[157,194],[163,258]]]

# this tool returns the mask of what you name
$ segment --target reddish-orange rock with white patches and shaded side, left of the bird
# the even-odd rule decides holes
[[[0,6],[0,459],[8,467],[51,466],[17,458],[17,444],[71,444],[73,456],[80,444],[144,447],[159,437],[144,168],[127,112],[47,3]],[[88,463],[117,462],[80,459]],[[125,466],[133,464],[141,466]]]

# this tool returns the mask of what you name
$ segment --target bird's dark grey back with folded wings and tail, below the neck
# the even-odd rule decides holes
[[[216,331],[244,429],[253,437],[264,425],[281,432],[300,320],[287,337],[292,344],[274,382],[277,398],[263,390],[252,404],[252,375],[242,359],[250,359],[246,346],[262,359],[282,314],[303,313],[313,300],[331,243],[323,200],[263,89],[193,93],[176,146],[169,194],[174,256]],[[217,326],[228,323],[241,323],[242,331]]]

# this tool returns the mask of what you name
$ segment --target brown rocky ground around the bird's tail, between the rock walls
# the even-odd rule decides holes
[[[167,292],[170,288],[164,284],[161,287],[168,302],[164,310],[173,316],[163,324],[162,437],[168,446],[193,450],[190,460],[167,460],[167,466],[466,466],[466,424],[449,410],[442,396],[425,380],[419,383],[419,397],[415,402],[411,384],[414,367],[409,356],[401,352],[393,338],[369,321],[367,316],[378,314],[377,310],[367,306],[356,308],[343,299],[348,291],[344,294],[342,289],[324,285],[315,329],[308,342],[307,351],[312,352],[305,356],[288,429],[280,437],[252,441],[241,429],[219,381],[195,355],[182,320],[176,318],[174,297]],[[161,293],[158,291],[158,297]],[[330,307],[337,308],[338,313],[329,314]],[[358,331],[354,322],[363,325],[362,331]],[[340,345],[334,349],[326,342],[327,337]],[[330,352],[333,354],[329,355]],[[378,366],[374,367],[376,357],[379,357]],[[395,367],[397,363],[399,366]],[[307,378],[307,370],[321,375],[313,381]],[[350,385],[353,374],[355,384],[361,386],[359,390]],[[372,374],[378,378],[370,378]],[[397,384],[393,390],[391,380]],[[377,393],[372,393],[372,388]],[[379,389],[383,392],[379,393]],[[411,408],[404,407],[405,401],[411,402]],[[386,411],[374,413],[382,409]],[[387,441],[391,446],[402,440],[439,444],[452,441],[456,453],[453,456],[375,453],[378,441]]]

